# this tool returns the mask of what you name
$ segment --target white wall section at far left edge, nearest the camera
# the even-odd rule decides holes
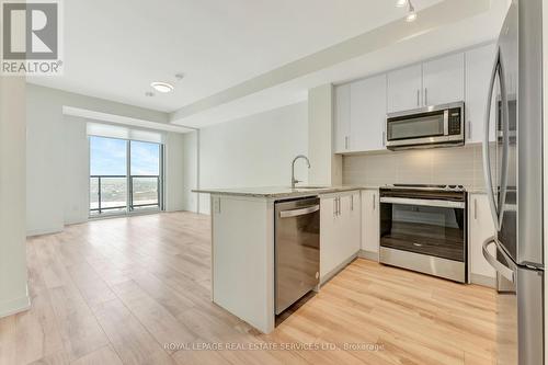
[[[0,77],[0,317],[30,307],[25,251],[25,80]]]

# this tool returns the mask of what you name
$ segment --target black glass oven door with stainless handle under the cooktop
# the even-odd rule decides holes
[[[464,263],[465,202],[381,197],[380,247]]]

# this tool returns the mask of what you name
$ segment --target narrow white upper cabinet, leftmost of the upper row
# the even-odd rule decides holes
[[[351,115],[351,87],[343,84],[335,87],[335,121],[333,148],[335,153],[343,153],[350,150],[350,115]]]

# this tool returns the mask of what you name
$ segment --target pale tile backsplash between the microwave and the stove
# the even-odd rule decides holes
[[[343,183],[460,184],[481,190],[481,145],[344,156]]]

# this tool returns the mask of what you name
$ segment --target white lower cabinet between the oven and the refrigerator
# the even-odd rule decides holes
[[[468,197],[468,248],[470,250],[470,282],[476,284],[494,284],[495,271],[486,261],[481,250],[486,239],[494,235],[487,194],[470,194]],[[491,247],[493,249],[493,247]],[[494,251],[491,252],[494,255]]]

